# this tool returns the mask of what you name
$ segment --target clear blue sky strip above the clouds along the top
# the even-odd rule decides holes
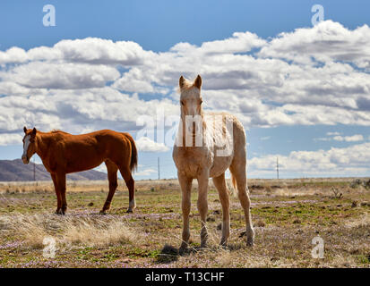
[[[56,27],[42,25],[42,7],[56,6]],[[133,40],[145,49],[166,51],[178,42],[200,45],[249,30],[262,38],[311,26],[311,7],[322,4],[325,19],[354,29],[368,23],[370,4],[354,1],[40,1],[1,3],[1,49],[52,46],[64,38]]]

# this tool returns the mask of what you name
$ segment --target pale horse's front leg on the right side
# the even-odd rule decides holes
[[[210,172],[209,170],[202,170],[198,175],[198,211],[201,214],[202,220],[202,231],[201,231],[201,248],[207,247],[208,232],[206,226],[207,212],[208,212],[208,180]]]

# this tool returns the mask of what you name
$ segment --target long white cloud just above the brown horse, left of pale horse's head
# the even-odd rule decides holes
[[[0,97],[0,132],[21,131],[24,125],[71,133],[141,130],[137,119],[141,115],[155,118],[153,105],[167,113],[178,108],[168,99],[144,101],[109,87],[50,89],[30,97]]]

